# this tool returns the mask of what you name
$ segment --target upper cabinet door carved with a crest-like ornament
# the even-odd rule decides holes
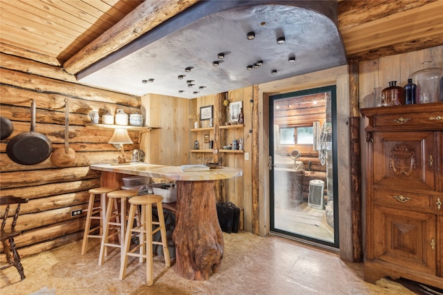
[[[385,189],[436,189],[437,133],[374,133],[374,186]]]

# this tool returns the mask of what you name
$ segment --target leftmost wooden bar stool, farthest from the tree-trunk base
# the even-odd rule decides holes
[[[82,252],[81,254],[86,254],[88,248],[89,238],[101,238],[103,236],[103,222],[105,221],[105,210],[106,210],[106,194],[111,191],[116,191],[116,189],[111,187],[96,187],[95,189],[89,189],[89,203],[87,209],[86,223],[84,225],[84,234],[82,242]],[[96,202],[96,196],[100,195],[100,205],[94,207]],[[91,220],[100,220],[98,226],[91,229]],[[99,234],[91,234],[93,231],[100,229]]]

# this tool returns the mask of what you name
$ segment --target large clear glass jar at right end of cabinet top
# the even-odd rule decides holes
[[[413,79],[417,84],[418,104],[443,101],[443,68],[433,67],[432,61],[424,61],[423,69],[411,74],[409,79]]]

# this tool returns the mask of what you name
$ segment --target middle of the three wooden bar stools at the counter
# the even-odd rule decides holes
[[[123,189],[120,191],[111,191],[107,193],[108,204],[105,214],[105,227],[103,230],[102,245],[100,246],[100,256],[98,257],[98,265],[102,265],[105,256],[107,256],[107,247],[120,248],[120,260],[123,258],[123,241],[125,240],[125,227],[127,220],[126,202],[127,198],[138,195],[135,189]],[[112,200],[115,200],[113,202]],[[118,208],[118,200],[120,200],[120,210]],[[114,210],[113,210],[114,209]],[[113,221],[111,221],[113,220]],[[114,221],[115,220],[115,221]],[[134,216],[132,219],[134,220]],[[132,226],[132,222],[128,222]],[[111,234],[109,232],[111,231]],[[118,235],[118,241],[109,242],[109,238]]]

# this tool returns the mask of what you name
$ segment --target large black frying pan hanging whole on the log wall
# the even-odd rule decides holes
[[[35,99],[31,104],[30,131],[20,133],[8,142],[8,157],[22,165],[35,165],[43,162],[51,155],[51,140],[42,133],[35,132]]]

